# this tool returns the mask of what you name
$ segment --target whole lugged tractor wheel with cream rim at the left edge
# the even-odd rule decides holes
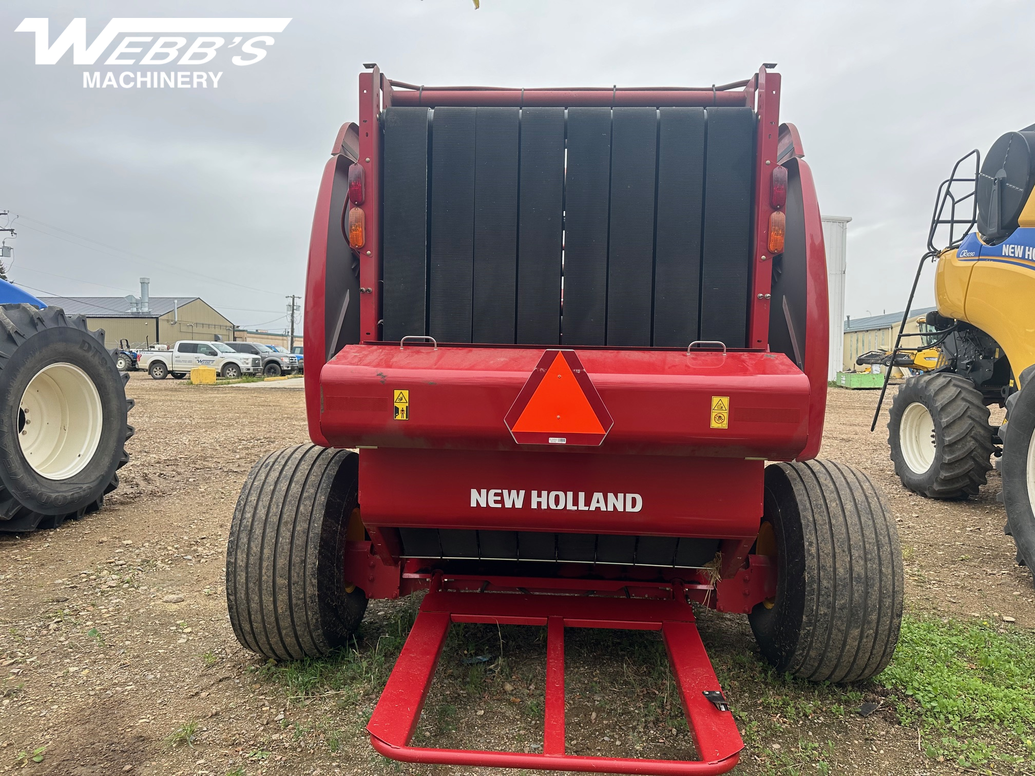
[[[100,509],[129,460],[128,378],[86,319],[0,307],[0,531],[57,528]]]

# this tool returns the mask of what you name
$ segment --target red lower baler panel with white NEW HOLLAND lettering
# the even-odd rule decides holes
[[[430,456],[405,448],[363,450],[363,524],[367,530],[505,526],[751,541],[759,533],[761,460],[669,455],[568,455],[564,466],[558,460],[535,452],[442,450]],[[728,482],[736,486],[720,484]],[[476,498],[483,489],[484,504]],[[601,499],[594,505],[597,495]],[[625,495],[634,498],[622,498],[619,505],[605,501]]]

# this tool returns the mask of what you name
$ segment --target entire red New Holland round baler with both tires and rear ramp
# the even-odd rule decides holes
[[[724,773],[737,699],[693,605],[747,615],[797,677],[890,660],[894,519],[863,473],[815,459],[826,263],[779,95],[770,65],[708,89],[360,74],[310,239],[313,444],[248,476],[227,596],[241,644],[288,660],[426,591],[367,726],[381,754]],[[545,628],[541,752],[412,745],[452,623]],[[660,632],[698,759],[568,753],[568,628]]]

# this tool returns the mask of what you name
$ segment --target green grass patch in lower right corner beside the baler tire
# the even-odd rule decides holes
[[[965,768],[993,759],[1035,765],[1031,633],[907,617],[894,660],[878,681],[895,691],[889,700],[901,723],[928,734],[928,756]],[[1007,751],[988,743],[997,740]]]

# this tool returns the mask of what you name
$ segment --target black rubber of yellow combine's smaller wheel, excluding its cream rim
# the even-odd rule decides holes
[[[914,401],[927,407],[941,437],[936,466],[921,476],[906,464],[898,444],[903,413]],[[888,421],[895,474],[906,487],[928,499],[976,496],[993,468],[995,444],[988,417],[981,392],[967,378],[944,371],[910,378],[898,389]]]

